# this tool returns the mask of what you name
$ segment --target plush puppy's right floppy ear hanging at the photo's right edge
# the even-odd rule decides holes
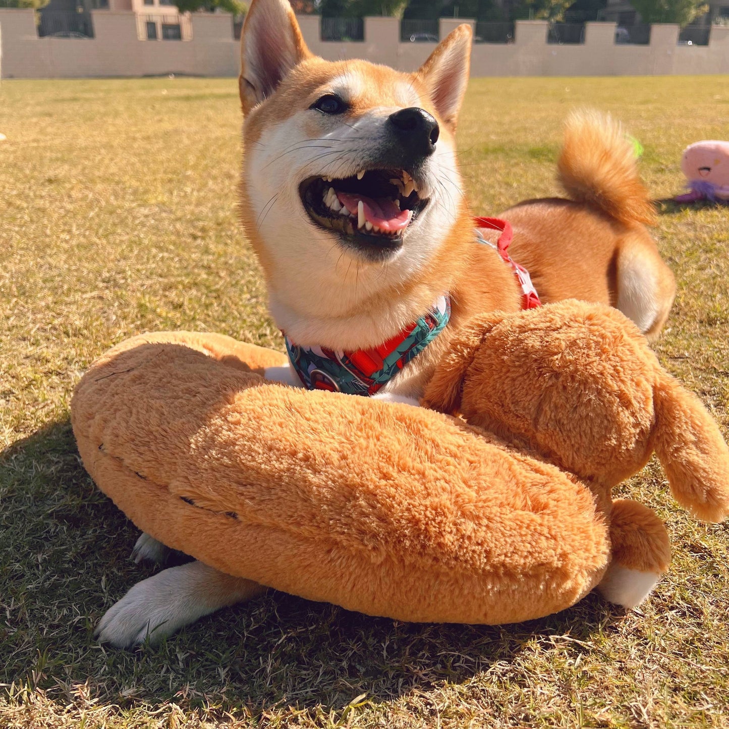
[[[653,447],[685,509],[703,521],[729,515],[729,448],[701,400],[665,373],[653,390]]]

